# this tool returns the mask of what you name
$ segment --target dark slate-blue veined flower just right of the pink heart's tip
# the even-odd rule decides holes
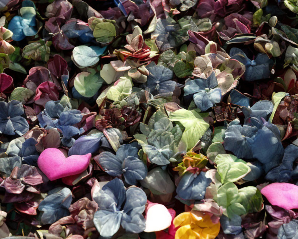
[[[109,175],[121,177],[130,185],[136,185],[147,175],[147,167],[138,157],[138,149],[130,144],[121,145],[116,155],[102,152],[94,157],[95,162]]]

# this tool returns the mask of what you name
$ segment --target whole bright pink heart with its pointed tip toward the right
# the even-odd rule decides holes
[[[38,157],[38,167],[49,180],[80,174],[89,166],[91,154],[65,157],[58,148],[47,148]]]

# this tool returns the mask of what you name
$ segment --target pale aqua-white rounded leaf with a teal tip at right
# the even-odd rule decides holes
[[[99,56],[105,52],[106,47],[77,46],[72,51],[72,61],[79,68],[95,65],[99,62]]]

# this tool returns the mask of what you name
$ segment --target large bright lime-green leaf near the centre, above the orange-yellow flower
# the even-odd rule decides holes
[[[170,113],[170,120],[184,126],[181,140],[187,144],[187,150],[190,150],[209,128],[209,124],[194,110],[176,110]]]

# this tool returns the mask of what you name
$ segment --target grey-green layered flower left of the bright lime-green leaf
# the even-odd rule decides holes
[[[182,137],[182,130],[179,125],[173,126],[166,115],[157,111],[150,118],[148,125],[140,124],[142,134],[135,134],[134,137],[142,145],[144,153],[151,163],[167,165],[177,153],[178,145]]]

